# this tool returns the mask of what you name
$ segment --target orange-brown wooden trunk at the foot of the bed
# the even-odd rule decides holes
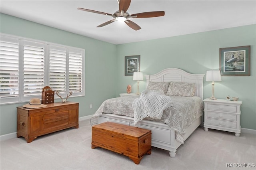
[[[92,148],[101,147],[128,156],[139,164],[151,154],[151,130],[105,122],[92,127]]]

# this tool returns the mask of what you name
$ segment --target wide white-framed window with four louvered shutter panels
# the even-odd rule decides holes
[[[44,86],[83,96],[83,59],[84,49],[1,34],[0,103],[41,99]]]

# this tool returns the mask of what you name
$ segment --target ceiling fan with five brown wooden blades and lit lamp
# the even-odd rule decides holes
[[[150,17],[158,17],[158,16],[164,16],[164,11],[153,11],[153,12],[142,12],[138,14],[132,14],[130,15],[127,10],[130,6],[131,0],[116,0],[119,3],[119,10],[116,11],[114,14],[108,14],[105,12],[99,12],[94,10],[88,10],[84,8],[77,8],[78,10],[87,11],[87,12],[93,12],[96,14],[103,14],[112,16],[114,19],[104,22],[103,24],[100,24],[97,27],[103,27],[108,24],[111,24],[115,21],[124,21],[125,24],[127,24],[130,28],[134,30],[140,30],[140,26],[138,26],[136,23],[132,22],[131,20],[128,20],[129,18],[150,18]]]

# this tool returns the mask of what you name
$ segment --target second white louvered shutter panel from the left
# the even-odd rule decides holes
[[[42,95],[44,88],[44,44],[24,41],[24,97]]]

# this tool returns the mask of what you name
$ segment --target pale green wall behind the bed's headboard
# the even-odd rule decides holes
[[[197,34],[161,38],[117,46],[118,93],[124,93],[128,84],[136,93],[137,83],[131,76],[124,76],[124,56],[140,55],[140,71],[158,73],[162,69],[176,67],[193,74],[206,74],[219,69],[219,49],[251,45],[251,76],[222,76],[215,82],[214,96],[238,96],[241,107],[242,128],[256,129],[256,25],[241,26]],[[146,80],[140,82],[140,91],[146,88]],[[204,99],[212,96],[211,82],[204,77]]]

